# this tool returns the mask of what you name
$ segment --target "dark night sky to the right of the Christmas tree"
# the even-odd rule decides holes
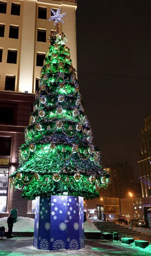
[[[78,0],[76,26],[78,82],[103,167],[128,161],[138,176],[139,128],[151,113],[151,1]]]

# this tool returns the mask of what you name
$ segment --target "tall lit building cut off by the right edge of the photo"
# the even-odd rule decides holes
[[[142,197],[149,202],[151,196],[151,115],[144,119],[144,128],[140,130],[139,166],[141,171]]]

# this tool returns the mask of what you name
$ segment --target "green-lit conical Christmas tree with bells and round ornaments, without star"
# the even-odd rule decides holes
[[[20,165],[11,175],[11,186],[22,188],[22,197],[29,200],[64,192],[99,198],[99,188],[108,185],[110,175],[100,165],[101,153],[93,144],[66,41],[56,23],[25,144],[19,150]]]

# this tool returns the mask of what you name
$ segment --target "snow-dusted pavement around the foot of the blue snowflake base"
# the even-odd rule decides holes
[[[85,248],[74,251],[44,251],[32,246],[31,238],[0,239],[0,256],[151,256],[121,242],[85,239]]]

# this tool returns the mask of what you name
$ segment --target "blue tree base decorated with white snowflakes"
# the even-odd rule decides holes
[[[39,250],[84,248],[83,198],[52,195],[36,198],[34,247]]]

